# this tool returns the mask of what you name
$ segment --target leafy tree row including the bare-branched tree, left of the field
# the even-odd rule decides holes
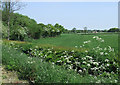
[[[39,39],[41,37],[55,37],[64,32],[64,27],[43,23],[37,24],[34,19],[28,16],[14,13],[23,8],[18,0],[6,0],[2,2],[2,37],[8,40],[25,40],[28,38]]]

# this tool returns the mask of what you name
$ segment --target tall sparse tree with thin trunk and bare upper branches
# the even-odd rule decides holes
[[[3,19],[6,20],[6,24],[8,26],[8,40],[10,37],[10,19],[13,12],[20,10],[23,7],[18,0],[4,0],[2,2],[2,11],[5,17]]]

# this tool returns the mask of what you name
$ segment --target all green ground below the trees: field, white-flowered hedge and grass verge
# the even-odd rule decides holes
[[[29,42],[3,40],[2,51],[6,69],[34,83],[119,82],[118,34],[61,34]]]

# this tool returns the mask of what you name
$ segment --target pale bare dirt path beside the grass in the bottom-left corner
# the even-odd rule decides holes
[[[29,84],[28,81],[26,80],[19,80],[17,73],[15,71],[7,71],[4,69],[4,66],[0,67],[0,79],[2,79],[2,82],[0,80],[0,85],[1,83],[25,83]]]

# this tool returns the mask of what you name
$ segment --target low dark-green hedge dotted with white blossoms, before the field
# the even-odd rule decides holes
[[[103,40],[101,41],[103,42]],[[89,42],[85,41],[84,44],[86,43]],[[116,60],[118,56],[115,55],[114,49],[110,46],[105,48],[97,46],[84,52],[54,50],[54,48],[38,46],[26,51],[31,57],[39,57],[47,62],[62,65],[67,69],[74,69],[80,74],[103,75],[104,72],[109,74],[118,73],[118,63]]]

